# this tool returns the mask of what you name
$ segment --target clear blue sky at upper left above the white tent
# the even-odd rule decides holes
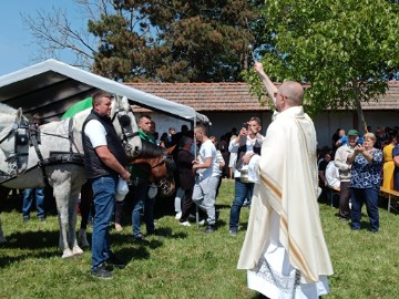
[[[4,75],[38,63],[32,60],[37,51],[34,39],[23,25],[21,13],[35,16],[35,11],[51,12],[52,7],[66,10],[73,23],[82,21],[73,0],[11,0],[4,1],[0,10],[0,75]],[[64,60],[64,59],[61,59]],[[68,58],[65,56],[65,61]]]

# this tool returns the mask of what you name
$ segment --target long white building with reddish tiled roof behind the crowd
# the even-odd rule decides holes
[[[160,97],[188,105],[205,114],[212,122],[211,134],[219,137],[232,127],[239,126],[252,116],[263,121],[263,131],[270,122],[272,111],[268,105],[260,105],[256,96],[250,95],[247,83],[126,83],[127,85],[155,94]],[[372,128],[377,126],[399,125],[399,82],[389,82],[389,90],[378,101],[362,103],[366,122]],[[149,110],[135,107],[137,113]],[[180,121],[157,118],[160,134],[166,132],[171,123],[178,130]],[[337,127],[349,130],[357,127],[355,111],[326,111],[314,117],[320,145],[330,145],[330,136]],[[182,123],[183,124],[183,123]]]

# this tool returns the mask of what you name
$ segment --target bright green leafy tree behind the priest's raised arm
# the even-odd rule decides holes
[[[399,14],[388,0],[269,0],[263,32],[270,44],[260,49],[265,71],[275,81],[308,82],[308,112],[356,107],[388,89],[399,71]],[[258,81],[248,75],[263,96]]]

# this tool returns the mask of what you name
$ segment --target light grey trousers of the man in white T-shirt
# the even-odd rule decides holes
[[[215,198],[218,176],[207,178],[195,178],[193,190],[193,202],[207,214],[207,224],[214,226],[216,224]]]

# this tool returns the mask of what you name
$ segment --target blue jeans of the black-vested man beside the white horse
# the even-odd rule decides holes
[[[115,206],[116,176],[102,176],[92,181],[95,208],[92,235],[92,270],[111,256],[110,224]]]

